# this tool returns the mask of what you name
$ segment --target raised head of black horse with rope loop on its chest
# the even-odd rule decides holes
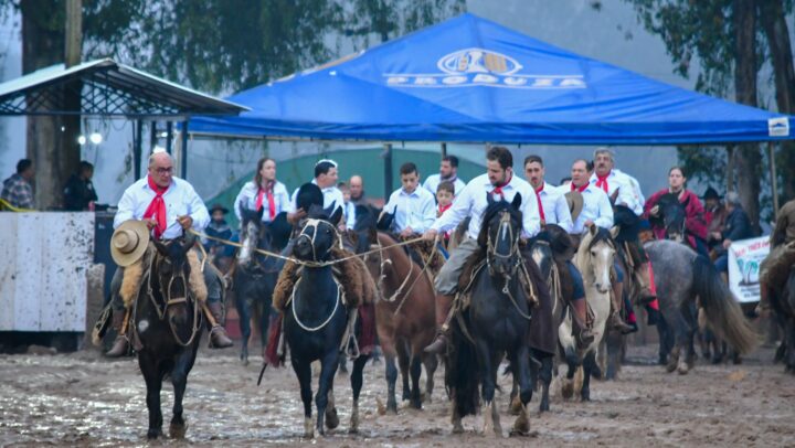
[[[301,223],[293,253],[298,259],[326,262],[331,249],[340,244],[336,224],[342,217],[342,209],[332,203],[326,210],[311,207],[309,217]]]

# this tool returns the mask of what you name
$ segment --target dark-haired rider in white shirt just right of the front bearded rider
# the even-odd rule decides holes
[[[524,159],[524,177],[533,190],[536,190],[541,225],[556,224],[563,228],[563,231],[571,232],[574,223],[569,212],[564,191],[547,183],[544,181],[544,173],[543,159],[541,159],[541,157],[528,156]],[[585,302],[585,287],[583,286],[582,274],[580,274],[580,270],[571,262],[571,258],[565,260],[565,265],[569,268],[573,284],[571,306],[574,310],[574,321],[580,328],[575,338],[577,339],[577,343],[586,346],[593,342],[594,335],[591,327],[587,324],[587,303]]]

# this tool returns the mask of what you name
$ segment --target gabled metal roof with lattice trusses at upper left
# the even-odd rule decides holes
[[[81,110],[59,109],[67,96]],[[224,99],[119,64],[112,58],[38,70],[0,84],[0,116],[82,115],[131,119],[187,119],[250,110]]]

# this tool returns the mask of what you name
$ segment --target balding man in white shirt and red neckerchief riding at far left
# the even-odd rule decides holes
[[[190,228],[201,232],[210,222],[210,214],[193,186],[173,175],[171,156],[156,152],[149,157],[149,174],[130,185],[119,200],[114,228],[129,220],[144,221],[155,238],[176,239]],[[223,349],[231,346],[232,340],[221,324],[224,316],[222,281],[218,271],[210,266],[208,264],[203,271],[208,290],[208,320],[213,322],[210,346]],[[120,331],[125,316],[129,312],[120,295],[124,273],[123,267],[116,269],[110,282],[113,327],[119,334],[106,353],[109,358],[121,356],[128,350],[127,337]]]

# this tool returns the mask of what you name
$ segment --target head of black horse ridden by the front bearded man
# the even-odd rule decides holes
[[[512,275],[519,262],[519,237],[522,230],[521,194],[517,193],[512,202],[505,199],[495,201],[487,193],[488,206],[484,213],[483,227],[478,236],[480,247],[487,248],[491,274]]]

